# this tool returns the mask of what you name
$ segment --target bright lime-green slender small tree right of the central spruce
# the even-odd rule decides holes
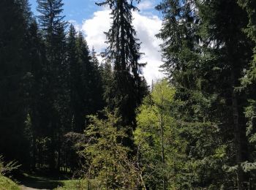
[[[135,143],[143,165],[141,172],[146,185],[157,189],[160,186],[162,189],[167,188],[167,162],[172,159],[170,152],[173,151],[171,136],[174,120],[170,116],[170,105],[174,94],[175,89],[170,87],[167,80],[158,82],[151,94],[144,99],[137,115]],[[145,173],[147,174],[144,175]]]

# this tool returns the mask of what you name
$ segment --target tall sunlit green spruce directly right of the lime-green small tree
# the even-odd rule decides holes
[[[200,89],[200,80],[204,78],[199,64],[200,51],[197,48],[197,12],[192,8],[195,7],[195,1],[183,1],[183,3],[162,1],[157,6],[157,9],[164,14],[163,26],[157,37],[163,39],[161,47],[165,62],[162,69],[167,73],[170,83],[176,87],[177,103],[173,105],[170,113],[180,128],[178,135],[181,135],[182,141],[187,143],[187,155],[185,154],[179,163],[183,167],[173,166],[179,178],[174,178],[171,185],[182,189],[194,189],[207,187],[212,183],[211,181],[216,180],[211,178],[211,173],[217,173],[218,166],[209,164],[205,169],[208,173],[205,173],[203,159],[208,158],[211,162],[211,155],[214,154],[217,145],[211,142],[203,145],[202,142],[206,142],[206,139],[198,137],[203,136],[201,132],[207,128],[208,133],[213,136],[216,131],[214,120],[208,115],[213,94],[203,94]],[[211,147],[211,151],[206,151],[206,147]],[[179,153],[182,154],[181,151]],[[192,165],[195,167],[192,168]],[[191,176],[191,172],[197,177]],[[204,178],[200,178],[200,175],[204,175]]]

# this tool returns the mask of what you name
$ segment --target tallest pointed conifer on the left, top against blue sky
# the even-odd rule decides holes
[[[43,31],[46,50],[45,64],[45,126],[50,137],[48,160],[51,168],[59,167],[61,139],[69,126],[68,68],[66,61],[65,26],[61,0],[37,0],[39,26]]]

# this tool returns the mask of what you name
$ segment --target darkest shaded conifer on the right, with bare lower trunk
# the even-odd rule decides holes
[[[225,99],[225,118],[222,124],[225,126],[223,136],[231,135],[233,141],[233,154],[230,155],[230,163],[227,165],[236,167],[236,183],[238,189],[245,188],[248,179],[241,167],[241,163],[247,159],[246,121],[244,118],[244,105],[246,94],[238,93],[236,87],[241,85],[240,78],[249,66],[252,56],[252,42],[248,40],[242,29],[246,27],[248,18],[246,12],[238,6],[236,1],[211,1],[200,7],[203,26],[206,31],[208,43],[216,42],[212,48],[217,56],[215,66],[219,68],[218,80],[222,83],[215,84],[219,88],[219,96]],[[209,15],[207,12],[213,12]],[[212,27],[214,26],[214,27]],[[207,29],[207,28],[208,29]],[[229,120],[227,120],[229,118]],[[229,129],[229,131],[227,131]]]

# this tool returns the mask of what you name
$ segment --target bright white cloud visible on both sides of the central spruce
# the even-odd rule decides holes
[[[109,13],[108,9],[94,12],[93,18],[84,20],[81,27],[81,30],[86,34],[89,47],[94,47],[98,53],[108,46],[105,43],[106,36],[104,32],[110,28]],[[145,53],[140,62],[148,63],[143,69],[143,74],[148,84],[151,84],[151,80],[163,77],[162,72],[159,72],[159,66],[162,64],[161,53],[159,53],[161,41],[155,37],[155,34],[161,28],[162,21],[157,16],[141,15],[138,12],[133,12],[133,17],[137,37],[142,42],[140,51]]]

